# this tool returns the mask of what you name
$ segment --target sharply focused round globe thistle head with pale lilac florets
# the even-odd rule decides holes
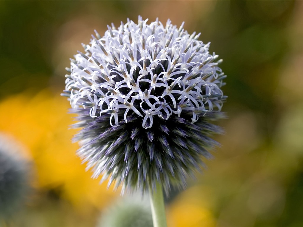
[[[78,114],[78,155],[124,189],[146,191],[156,182],[166,192],[184,186],[218,145],[211,123],[220,117],[226,77],[209,44],[158,19],[139,16],[97,31],[66,68],[64,96]]]

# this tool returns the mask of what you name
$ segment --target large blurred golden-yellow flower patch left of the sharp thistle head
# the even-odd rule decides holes
[[[75,155],[72,143],[75,130],[67,114],[69,104],[60,94],[44,90],[32,97],[29,93],[11,96],[0,103],[0,129],[27,146],[36,166],[37,187],[59,187],[62,196],[74,205],[101,208],[115,196],[107,184],[91,179],[85,165]]]

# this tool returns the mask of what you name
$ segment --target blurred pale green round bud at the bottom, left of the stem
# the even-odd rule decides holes
[[[124,197],[102,213],[98,227],[153,226],[148,197]]]

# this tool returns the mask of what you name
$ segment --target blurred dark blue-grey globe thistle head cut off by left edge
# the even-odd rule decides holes
[[[29,190],[29,166],[20,149],[15,140],[0,133],[0,220],[11,218]]]

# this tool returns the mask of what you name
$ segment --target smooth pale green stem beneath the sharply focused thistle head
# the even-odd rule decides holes
[[[166,227],[164,197],[160,183],[156,183],[154,191],[151,186],[149,186],[149,198],[151,202],[151,214],[154,227]]]

